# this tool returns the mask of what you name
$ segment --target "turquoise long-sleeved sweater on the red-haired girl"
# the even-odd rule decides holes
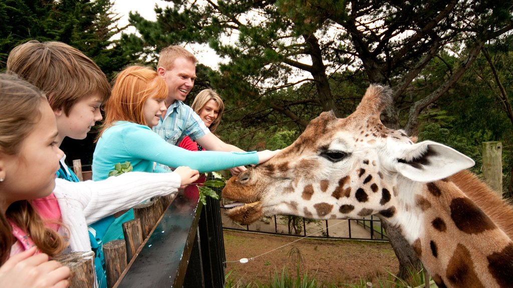
[[[98,139],[93,154],[93,180],[103,180],[116,163],[129,161],[133,171],[153,172],[154,162],[200,173],[258,164],[256,152],[189,151],[171,145],[147,126],[118,121]]]

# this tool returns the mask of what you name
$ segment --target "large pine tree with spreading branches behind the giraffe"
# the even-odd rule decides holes
[[[363,71],[368,83],[394,88],[394,104],[384,113],[385,125],[403,126],[410,134],[417,133],[419,114],[457,83],[485,43],[513,28],[510,0],[207,0],[172,4],[155,9],[156,22],[130,15],[149,58],[170,44],[208,43],[229,59],[220,66],[219,74],[210,74],[210,83],[239,107],[247,107],[249,100],[253,109],[245,111],[255,112],[246,117],[255,113],[269,117],[278,112],[305,126],[308,119],[298,116],[305,102],[343,116],[329,79],[340,70]],[[226,43],[226,37],[233,43]],[[423,69],[433,59],[443,59],[449,47],[458,48],[460,56],[445,67],[443,80],[437,86],[421,87],[421,93],[411,90]],[[290,75],[301,71],[311,77],[290,80]],[[273,97],[277,89],[304,82],[314,87],[313,98]],[[411,254],[398,255],[400,275],[404,276],[408,262],[416,257],[399,238],[392,239],[396,254],[407,249]]]

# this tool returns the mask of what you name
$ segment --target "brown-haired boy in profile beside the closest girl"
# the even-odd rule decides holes
[[[100,107],[110,96],[107,77],[93,60],[80,50],[61,42],[31,40],[16,46],[7,58],[7,73],[15,73],[46,94],[55,114],[57,137],[61,146],[65,137],[84,139],[102,120]],[[78,177],[61,159],[57,177],[78,182]],[[114,217],[110,216],[89,226],[89,240],[95,252],[98,286],[107,287],[102,238]]]

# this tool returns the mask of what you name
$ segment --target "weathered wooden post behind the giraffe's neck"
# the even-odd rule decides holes
[[[483,142],[483,177],[499,196],[502,197],[502,143]]]

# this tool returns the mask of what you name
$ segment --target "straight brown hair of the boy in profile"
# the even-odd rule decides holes
[[[102,102],[110,94],[102,70],[80,50],[61,42],[31,40],[9,53],[7,71],[16,73],[43,91],[53,110],[69,116],[78,100],[98,94]]]

